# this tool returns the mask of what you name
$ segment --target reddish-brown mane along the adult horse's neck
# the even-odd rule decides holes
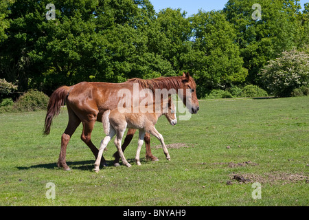
[[[183,80],[185,77],[183,76],[169,76],[169,77],[159,77],[151,80],[144,80],[141,78],[131,78],[127,82],[128,83],[139,83],[141,89],[179,89],[183,85]],[[194,83],[192,77],[190,77],[190,82]],[[194,83],[195,85],[195,83]]]

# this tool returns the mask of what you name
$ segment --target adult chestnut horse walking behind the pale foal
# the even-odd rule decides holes
[[[137,88],[135,85],[138,85]],[[154,94],[156,89],[168,89],[170,94],[176,93],[179,95],[190,113],[197,113],[199,109],[196,97],[196,83],[188,73],[183,74],[183,76],[161,77],[152,80],[134,78],[125,83],[83,82],[71,87],[60,87],[54,91],[49,99],[44,131],[45,135],[49,134],[53,118],[60,113],[61,105],[66,102],[69,122],[67,129],[65,129],[61,137],[60,155],[57,163],[59,168],[70,170],[66,162],[67,144],[81,122],[83,126],[81,139],[89,146],[95,158],[98,157],[98,148],[91,142],[91,132],[93,131],[95,121],[102,122],[104,111],[113,110],[118,107],[119,101],[123,100],[123,97],[119,96],[119,91],[130,91],[133,94],[131,97],[133,104],[141,102],[143,98],[135,96],[135,89],[138,90],[137,95],[142,89],[150,89]],[[187,91],[190,91],[190,93]],[[135,129],[128,130],[122,151],[128,146],[134,133]],[[146,159],[157,160],[157,157],[154,157],[150,150],[149,133],[145,135],[145,143]],[[119,154],[115,153],[114,155],[115,164],[117,164],[119,162]],[[104,157],[102,157],[102,162],[106,163]]]

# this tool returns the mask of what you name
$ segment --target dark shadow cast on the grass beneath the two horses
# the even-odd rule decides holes
[[[89,170],[93,171],[95,160],[84,160],[78,162],[67,162],[67,165],[71,168],[71,170]],[[107,166],[113,166],[113,161],[106,161]],[[101,165],[100,168],[103,166]],[[32,166],[17,166],[19,170],[28,170],[32,168],[47,168],[47,169],[62,169],[58,168],[57,163],[50,163],[50,164],[37,164]]]

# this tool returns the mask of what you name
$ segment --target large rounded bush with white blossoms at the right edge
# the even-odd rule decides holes
[[[283,52],[261,69],[260,80],[268,94],[286,97],[291,96],[294,89],[309,87],[308,51],[306,47],[304,51]]]

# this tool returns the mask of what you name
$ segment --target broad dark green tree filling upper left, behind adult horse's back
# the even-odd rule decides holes
[[[148,0],[55,0],[56,18],[47,20],[49,1],[16,0],[8,8],[8,39],[0,44],[0,72],[20,91],[50,94],[82,80],[119,83],[161,76],[172,67],[148,48],[155,10]]]

